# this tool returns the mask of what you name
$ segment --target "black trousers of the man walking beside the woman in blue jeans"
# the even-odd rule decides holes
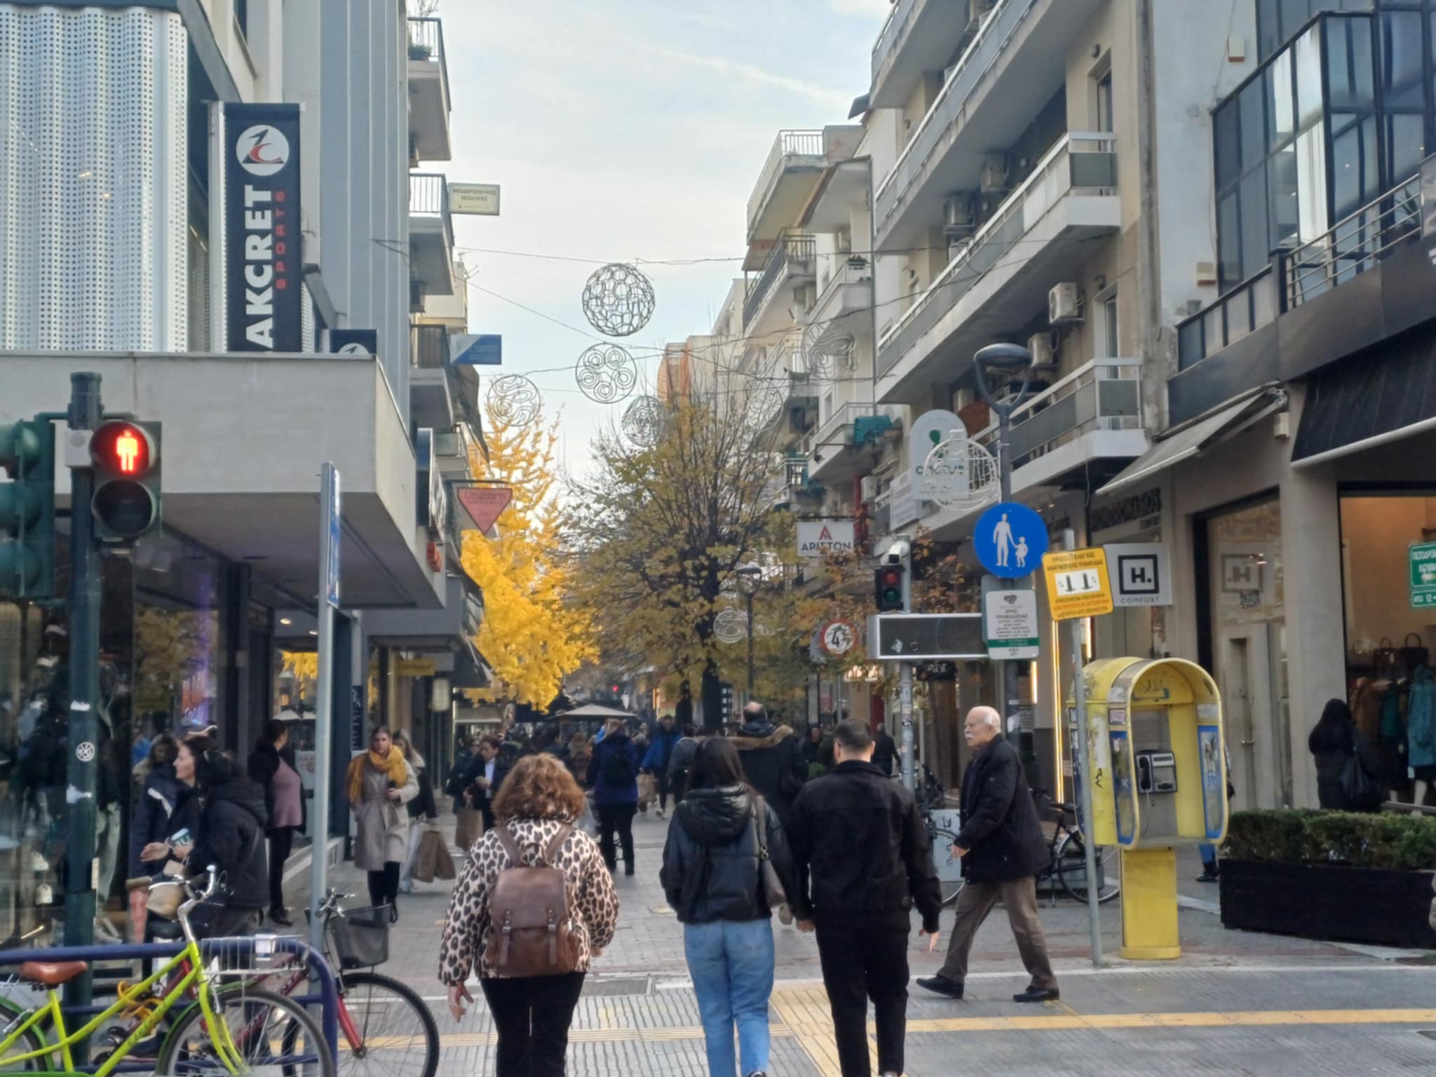
[[[833,1035],[843,1077],[872,1077],[867,1057],[867,999],[877,1020],[877,1071],[903,1071],[908,1032],[908,915],[844,918],[817,925],[823,984],[833,1010]]]

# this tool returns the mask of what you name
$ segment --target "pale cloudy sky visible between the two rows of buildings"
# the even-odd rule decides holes
[[[603,339],[583,316],[589,274],[603,261],[731,258],[643,267],[658,306],[620,343],[652,386],[662,345],[709,332],[741,276],[747,201],[777,132],[849,122],[889,9],[439,0],[454,159],[422,167],[503,188],[500,217],[454,218],[472,281],[470,332],[503,335],[503,372],[531,373],[546,416],[563,409],[573,472],[587,470],[590,439],[628,404],[595,404],[574,383],[580,352]]]

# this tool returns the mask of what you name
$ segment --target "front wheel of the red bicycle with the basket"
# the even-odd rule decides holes
[[[339,1073],[434,1077],[439,1027],[418,992],[378,972],[345,972],[339,999]]]

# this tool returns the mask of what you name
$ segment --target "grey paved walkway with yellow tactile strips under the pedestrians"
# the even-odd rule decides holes
[[[452,833],[452,820],[448,820]],[[613,945],[595,964],[574,1015],[574,1077],[707,1074],[698,1007],[682,958],[682,926],[658,886],[665,824],[639,817],[638,875],[619,877],[623,902]],[[1199,872],[1183,859],[1183,879]],[[366,900],[362,873],[343,864],[335,885]],[[435,979],[449,883],[416,885],[399,902],[401,922],[385,971],[431,1001],[442,1032],[441,1074],[493,1073],[493,1025],[482,997],[460,1024]],[[1198,903],[1215,890],[1183,882],[1183,958],[1159,966],[1113,958],[1091,968],[1086,909],[1043,906],[1063,999],[1011,1001],[1025,984],[998,910],[974,948],[968,1001],[912,988],[909,1077],[972,1074],[1292,1074],[1436,1073],[1436,964],[1269,935],[1228,932]],[[299,905],[300,895],[293,903]],[[948,918],[945,916],[945,926]],[[778,985],[773,997],[770,1077],[840,1077],[827,995],[811,936],[774,922]],[[1103,938],[1116,955],[1120,910],[1103,908]],[[941,964],[918,948],[913,975]]]

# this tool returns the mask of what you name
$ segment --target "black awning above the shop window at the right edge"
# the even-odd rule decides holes
[[[1318,370],[1307,383],[1294,467],[1436,428],[1436,333],[1422,326]]]

